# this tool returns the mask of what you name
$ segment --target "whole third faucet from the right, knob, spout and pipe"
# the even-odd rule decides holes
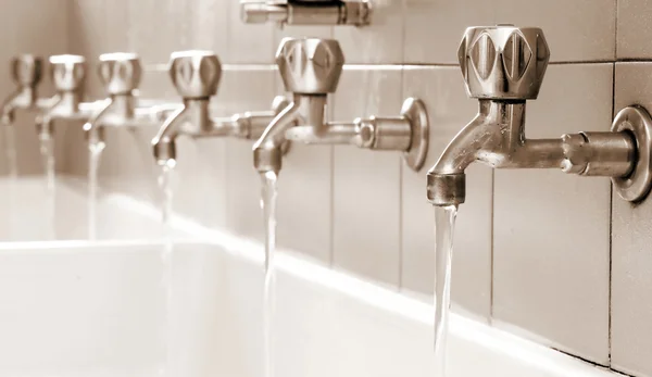
[[[179,135],[258,139],[288,103],[284,97],[277,97],[271,111],[251,111],[229,117],[211,116],[210,99],[217,93],[222,65],[217,55],[210,51],[174,52],[171,55],[170,76],[184,104],[165,118],[152,139],[154,158],[160,165],[176,159],[175,141]]]

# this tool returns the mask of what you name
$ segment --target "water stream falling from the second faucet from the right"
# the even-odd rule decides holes
[[[261,174],[261,208],[265,225],[265,282],[263,291],[263,377],[274,376],[274,306],[276,275],[274,253],[276,250],[276,173]]]

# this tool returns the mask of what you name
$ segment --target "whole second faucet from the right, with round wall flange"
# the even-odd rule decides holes
[[[324,120],[328,93],[337,89],[344,56],[337,40],[286,38],[276,63],[289,103],[267,126],[253,146],[260,173],[281,168],[281,146],[287,140],[308,144],[353,144],[372,150],[403,151],[408,165],[418,171],[428,150],[428,115],[421,100],[410,98],[401,115],[359,117],[352,122]]]

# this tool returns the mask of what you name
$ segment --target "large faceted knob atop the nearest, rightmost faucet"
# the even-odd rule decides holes
[[[469,27],[457,51],[466,90],[473,98],[534,100],[550,50],[538,27]]]

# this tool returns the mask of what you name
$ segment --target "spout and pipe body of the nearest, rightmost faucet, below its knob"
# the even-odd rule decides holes
[[[480,100],[478,115],[428,172],[428,200],[439,206],[464,203],[465,169],[476,161],[492,168],[561,168],[585,176],[625,177],[635,167],[636,150],[627,131],[527,139],[525,101]]]

